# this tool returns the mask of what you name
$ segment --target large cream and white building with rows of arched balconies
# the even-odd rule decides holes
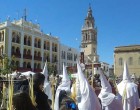
[[[58,70],[59,39],[44,34],[38,24],[24,19],[0,23],[0,55],[16,57],[19,71],[40,72],[47,59],[48,63]]]

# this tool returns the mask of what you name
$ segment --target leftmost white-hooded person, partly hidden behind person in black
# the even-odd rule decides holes
[[[45,76],[45,81],[44,81],[44,92],[48,96],[48,99],[52,100],[52,91],[51,91],[51,86],[48,81],[48,68],[47,68],[47,60],[43,69],[42,74]]]

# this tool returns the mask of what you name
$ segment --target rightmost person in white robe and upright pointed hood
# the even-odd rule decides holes
[[[134,110],[140,107],[137,85],[131,82],[126,62],[124,62],[123,80],[117,87],[118,92],[122,96],[124,110]]]

